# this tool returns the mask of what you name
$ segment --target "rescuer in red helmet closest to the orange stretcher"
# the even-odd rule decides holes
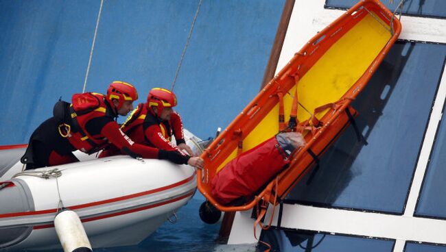
[[[152,88],[147,103],[139,104],[121,125],[121,129],[139,144],[193,156],[192,150],[185,143],[180,115],[173,110],[176,104],[173,92],[164,88]],[[176,145],[171,142],[172,135],[175,136]],[[115,151],[110,150],[102,155],[116,155]],[[201,159],[200,161],[202,162]]]

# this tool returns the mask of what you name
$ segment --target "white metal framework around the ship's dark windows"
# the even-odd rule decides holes
[[[324,5],[325,0],[296,0],[283,42],[277,72],[314,34],[344,12],[325,9]],[[446,19],[401,16],[401,23],[403,31],[399,38],[402,40],[446,43]],[[403,215],[284,204],[281,227],[323,231],[331,234],[388,238],[396,240],[393,252],[402,252],[407,240],[446,244],[444,235],[446,220],[414,217],[416,201],[421,191],[436,130],[439,121],[441,121],[445,98],[446,71],[441,77]],[[273,225],[277,225],[277,217],[278,211],[274,215]],[[257,229],[257,237],[259,237],[260,228]],[[253,242],[257,242],[257,240],[253,236],[253,220],[250,218],[250,211],[237,212],[228,244]]]

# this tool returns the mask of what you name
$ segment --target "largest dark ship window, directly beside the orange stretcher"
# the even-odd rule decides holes
[[[350,125],[285,201],[402,214],[445,54],[445,45],[397,42],[352,103],[368,144]]]

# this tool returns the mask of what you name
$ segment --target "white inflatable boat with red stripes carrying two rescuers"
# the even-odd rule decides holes
[[[196,192],[195,168],[123,155],[78,155],[84,161],[21,173],[25,147],[0,147],[0,251],[60,248],[54,218],[62,206],[78,214],[93,248],[138,244],[174,222]]]

